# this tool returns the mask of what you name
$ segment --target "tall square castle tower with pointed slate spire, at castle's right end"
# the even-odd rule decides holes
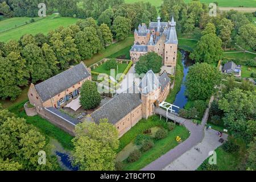
[[[167,67],[176,67],[177,61],[177,34],[176,34],[176,22],[174,16],[172,16],[171,22],[169,22],[168,34],[166,37],[166,43],[164,44],[164,65]]]

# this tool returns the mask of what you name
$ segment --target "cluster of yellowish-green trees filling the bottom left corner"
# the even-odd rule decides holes
[[[0,106],[1,107],[1,106]],[[46,138],[23,118],[0,109],[0,171],[56,170]],[[46,164],[38,163],[39,151],[46,152]]]

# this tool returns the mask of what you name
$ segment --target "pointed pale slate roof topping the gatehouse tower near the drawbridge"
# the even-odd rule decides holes
[[[152,92],[153,90],[159,88],[160,82],[156,77],[155,73],[150,69],[146,73],[146,75],[142,78],[141,82],[139,83],[139,88],[141,88],[141,93],[147,94]]]

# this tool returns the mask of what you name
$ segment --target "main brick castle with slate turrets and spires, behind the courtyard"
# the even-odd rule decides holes
[[[147,52],[156,52],[163,58],[163,65],[176,67],[177,59],[177,34],[176,22],[172,17],[171,22],[150,22],[148,28],[142,23],[138,31],[134,31],[134,46],[130,49],[131,60],[137,62],[141,55]]]

